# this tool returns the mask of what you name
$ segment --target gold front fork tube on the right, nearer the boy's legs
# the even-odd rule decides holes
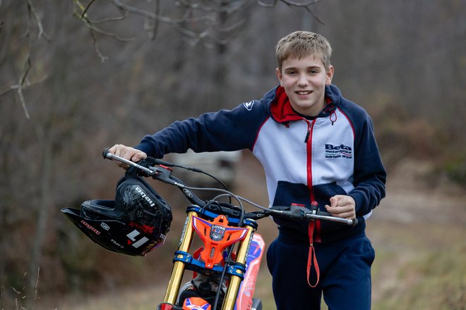
[[[244,240],[240,243],[240,246],[237,250],[236,261],[237,263],[246,264],[246,259],[248,258],[249,244],[253,237],[253,232],[255,228],[251,225],[246,225],[245,228],[248,229],[248,233]],[[231,275],[229,279],[229,285],[227,294],[223,302],[222,310],[233,310],[234,304],[237,302],[239,286],[241,285],[241,278],[238,275]]]

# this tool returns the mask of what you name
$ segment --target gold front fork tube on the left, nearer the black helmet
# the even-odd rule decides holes
[[[193,240],[193,216],[197,216],[198,213],[190,211],[184,224],[183,235],[178,247],[179,251],[189,252],[191,242]],[[182,258],[181,255],[176,256]],[[181,280],[183,279],[185,264],[182,261],[175,261],[172,270],[172,277],[168,283],[167,292],[165,292],[164,302],[169,304],[175,304],[179,293],[179,287],[181,287]]]

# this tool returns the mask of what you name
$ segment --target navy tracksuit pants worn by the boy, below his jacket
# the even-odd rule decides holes
[[[366,235],[314,243],[314,248],[320,269],[315,288],[306,279],[309,244],[293,243],[282,234],[270,244],[267,265],[277,309],[321,309],[322,294],[329,310],[371,309],[371,264],[375,253]],[[316,283],[315,272],[309,283]]]

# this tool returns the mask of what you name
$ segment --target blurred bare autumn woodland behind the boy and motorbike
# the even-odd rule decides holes
[[[424,283],[429,287],[412,285],[407,292],[376,285],[378,309],[408,309],[390,298],[417,290],[425,291],[424,299],[447,282],[439,302],[446,306],[431,309],[465,309],[464,0],[0,0],[0,309],[47,303],[55,309],[65,296],[154,285],[156,275],[166,279],[179,234],[145,259],[129,258],[92,244],[59,210],[112,199],[121,171],[102,161],[104,147],[134,145],[174,120],[261,98],[277,85],[275,44],[294,30],[329,39],[333,82],[374,119],[389,177],[402,175],[391,187],[398,200],[388,202],[438,191],[436,209],[415,211],[432,212],[434,220],[451,213],[439,230],[421,216],[423,228],[416,230],[438,241],[426,242],[429,251],[443,244],[443,256],[410,256],[391,272],[411,284],[431,268],[438,278],[453,279],[431,279]],[[254,178],[246,172],[241,182]],[[249,189],[263,188],[262,182]],[[155,186],[172,206],[179,203],[179,195]],[[391,244],[388,235],[410,240],[393,231],[412,231],[405,210],[392,210],[400,216],[378,217],[391,222],[374,230],[375,244]],[[184,221],[183,211],[177,219]],[[454,233],[442,235],[447,226]],[[407,247],[419,244],[412,240]],[[392,250],[382,248],[380,261],[396,266],[398,250]],[[443,272],[445,266],[450,269]],[[390,272],[377,267],[375,273]]]

